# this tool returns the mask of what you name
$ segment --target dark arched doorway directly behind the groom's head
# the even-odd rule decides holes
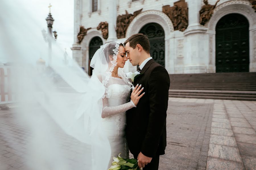
[[[150,42],[150,56],[157,63],[165,66],[164,29],[156,23],[149,23],[142,27],[139,33],[146,35]]]

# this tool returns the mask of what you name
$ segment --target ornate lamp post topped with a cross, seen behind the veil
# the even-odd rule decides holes
[[[52,33],[54,34],[54,37],[56,40],[57,39],[57,32],[56,31],[53,31],[52,32],[52,25],[53,25],[53,21],[54,19],[52,18],[51,16],[51,7],[52,5],[49,4],[48,8],[49,8],[49,14],[48,14],[48,17],[46,18],[46,22],[47,22],[47,27],[48,27],[48,38],[47,38],[47,41],[48,41],[48,57],[49,57],[49,65],[51,65],[51,42],[53,40],[53,36],[52,36]]]

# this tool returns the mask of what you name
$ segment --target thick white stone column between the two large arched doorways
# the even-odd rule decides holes
[[[184,73],[208,72],[208,39],[207,29],[199,24],[201,1],[188,1],[189,25],[184,31],[186,39]]]

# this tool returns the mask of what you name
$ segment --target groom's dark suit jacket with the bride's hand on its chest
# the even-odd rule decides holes
[[[166,111],[170,78],[166,69],[150,59],[134,80],[142,84],[144,96],[127,111],[126,137],[132,154],[153,158],[165,154]]]

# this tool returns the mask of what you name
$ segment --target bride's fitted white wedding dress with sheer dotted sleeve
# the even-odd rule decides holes
[[[125,140],[125,111],[134,107],[131,102],[128,102],[130,88],[131,86],[123,79],[111,77],[108,83],[111,95],[103,99],[105,103],[103,112],[108,117],[102,118],[102,126],[111,146],[109,167],[113,162],[113,156],[117,157],[119,153],[122,158],[129,158],[129,149]]]

